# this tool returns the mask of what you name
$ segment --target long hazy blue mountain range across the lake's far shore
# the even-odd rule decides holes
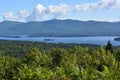
[[[0,35],[33,36],[120,36],[120,22],[49,20],[0,23]]]

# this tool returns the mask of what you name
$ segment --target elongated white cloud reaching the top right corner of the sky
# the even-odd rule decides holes
[[[120,0],[100,0],[97,3],[88,3],[74,6],[74,10],[77,12],[113,8],[120,8]]]

